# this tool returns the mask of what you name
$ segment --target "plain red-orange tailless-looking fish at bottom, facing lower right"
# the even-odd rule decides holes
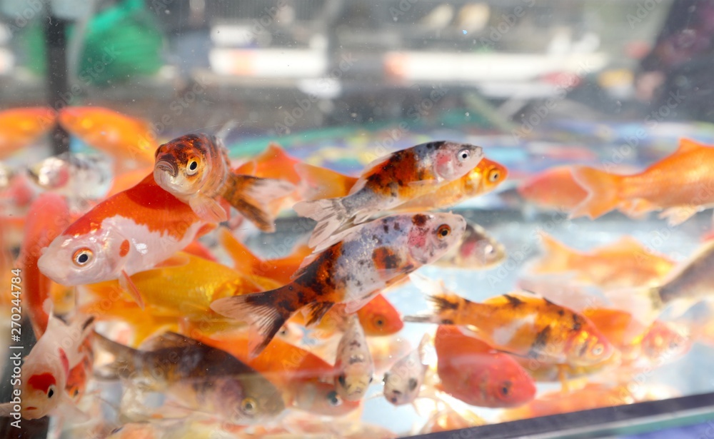
[[[439,326],[434,348],[439,387],[454,398],[498,408],[523,405],[535,397],[533,379],[516,360],[456,326]]]

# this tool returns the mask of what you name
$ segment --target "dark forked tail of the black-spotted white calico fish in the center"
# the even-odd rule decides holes
[[[266,348],[288,318],[297,311],[283,304],[282,299],[290,293],[288,286],[262,293],[221,298],[211,303],[211,309],[221,316],[248,323],[248,351],[251,358]],[[293,305],[289,298],[284,302],[288,303],[288,307]]]

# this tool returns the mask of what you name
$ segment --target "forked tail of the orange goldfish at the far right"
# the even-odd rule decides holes
[[[618,206],[620,203],[620,181],[623,176],[586,166],[573,168],[572,172],[575,181],[588,191],[588,196],[573,208],[570,218],[589,216],[594,219]]]

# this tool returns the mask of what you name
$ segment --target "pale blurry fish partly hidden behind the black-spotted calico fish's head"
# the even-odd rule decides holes
[[[506,248],[475,223],[466,224],[461,244],[434,263],[435,266],[485,270],[506,259]]]

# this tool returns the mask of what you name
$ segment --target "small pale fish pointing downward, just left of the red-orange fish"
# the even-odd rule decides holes
[[[399,359],[384,374],[384,398],[393,405],[413,403],[419,395],[428,366],[424,364],[423,350],[431,338],[424,334],[415,350]]]

